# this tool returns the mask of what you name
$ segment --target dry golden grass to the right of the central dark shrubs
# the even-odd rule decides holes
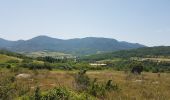
[[[170,74],[143,73],[140,76],[117,71],[89,72],[89,76],[101,81],[112,79],[119,84],[119,93],[109,93],[109,100],[168,100],[170,98]]]

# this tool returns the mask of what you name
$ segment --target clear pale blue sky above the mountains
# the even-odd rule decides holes
[[[0,0],[0,38],[38,35],[170,46],[170,0]]]

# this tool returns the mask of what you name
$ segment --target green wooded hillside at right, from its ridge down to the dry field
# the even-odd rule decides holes
[[[84,56],[86,62],[106,63],[115,70],[130,70],[131,63],[140,62],[147,72],[170,72],[170,47],[147,47]]]

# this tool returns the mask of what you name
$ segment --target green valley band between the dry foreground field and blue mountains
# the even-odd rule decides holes
[[[153,48],[151,48],[152,50]],[[21,54],[1,50],[0,54],[0,66],[11,68],[11,67],[23,67],[28,69],[60,69],[60,70],[105,70],[105,69],[114,69],[114,70],[131,70],[132,64],[134,62],[140,62],[143,65],[143,70],[146,72],[170,72],[170,61],[168,58],[168,52],[159,53],[160,50],[169,50],[169,47],[154,47],[154,51],[148,50],[148,48],[141,48],[137,50],[119,51],[115,52],[113,56],[109,53],[109,56],[106,57],[105,54],[99,54],[103,56],[101,58],[99,55],[94,57],[83,57],[83,58],[53,58],[51,56],[29,58]],[[136,51],[137,56],[133,56],[132,51]],[[140,51],[140,52],[139,52]],[[129,53],[130,52],[130,53]],[[139,52],[139,54],[138,54]],[[143,53],[147,52],[147,53]],[[150,54],[148,54],[150,53]],[[164,54],[166,53],[166,55]],[[106,54],[106,55],[107,55]],[[122,56],[120,55],[122,54]],[[139,56],[143,54],[143,56]],[[146,54],[146,55],[145,55]],[[113,56],[113,57],[111,57]],[[131,56],[131,57],[130,57]],[[95,57],[97,59],[95,59]],[[142,58],[148,57],[148,58]],[[149,58],[155,57],[155,58]],[[165,59],[165,60],[164,60]],[[96,64],[106,64],[106,66],[94,66],[90,63]]]

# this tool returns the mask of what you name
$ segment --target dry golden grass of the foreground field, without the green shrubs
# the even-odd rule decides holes
[[[1,69],[0,81],[4,75],[19,73],[30,74],[30,78],[17,78],[15,83],[21,88],[28,89],[25,95],[32,95],[36,86],[41,91],[47,91],[54,87],[66,87],[75,90],[74,75],[78,71],[30,71],[22,69],[18,72],[11,72],[7,69]],[[88,71],[90,79],[97,78],[99,82],[113,80],[120,87],[118,92],[109,92],[104,99],[106,100],[168,100],[170,98],[170,74],[161,73],[142,73],[142,75],[132,75],[122,71]],[[15,96],[17,99],[17,96]],[[97,99],[97,98],[96,98]]]

